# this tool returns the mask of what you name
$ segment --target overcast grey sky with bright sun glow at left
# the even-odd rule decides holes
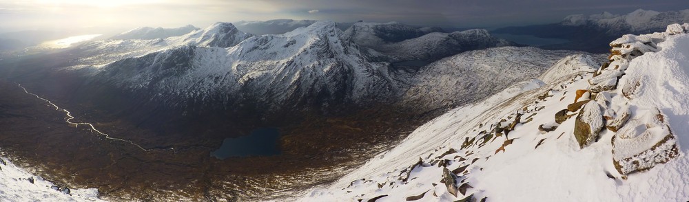
[[[569,14],[689,9],[689,0],[0,0],[1,30],[205,27],[216,21],[399,21],[442,27],[555,23]]]

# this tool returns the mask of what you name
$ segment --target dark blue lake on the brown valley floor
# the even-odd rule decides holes
[[[280,133],[277,128],[257,128],[242,137],[226,138],[223,145],[211,153],[218,159],[228,157],[279,155]]]

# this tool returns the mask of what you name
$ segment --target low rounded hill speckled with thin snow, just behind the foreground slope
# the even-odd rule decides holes
[[[535,47],[495,47],[464,52],[422,67],[403,100],[426,107],[475,102],[515,82],[536,78],[558,60],[577,52]],[[584,54],[588,60],[597,61]]]

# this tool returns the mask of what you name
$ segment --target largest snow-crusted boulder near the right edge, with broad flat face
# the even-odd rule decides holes
[[[630,120],[613,136],[613,165],[621,175],[648,170],[679,155],[677,139],[657,109]]]

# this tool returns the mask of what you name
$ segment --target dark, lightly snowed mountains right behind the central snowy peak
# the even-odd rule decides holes
[[[486,30],[444,33],[438,27],[411,27],[402,23],[354,23],[345,34],[362,47],[391,56],[392,61],[435,61],[461,52],[515,45]]]

